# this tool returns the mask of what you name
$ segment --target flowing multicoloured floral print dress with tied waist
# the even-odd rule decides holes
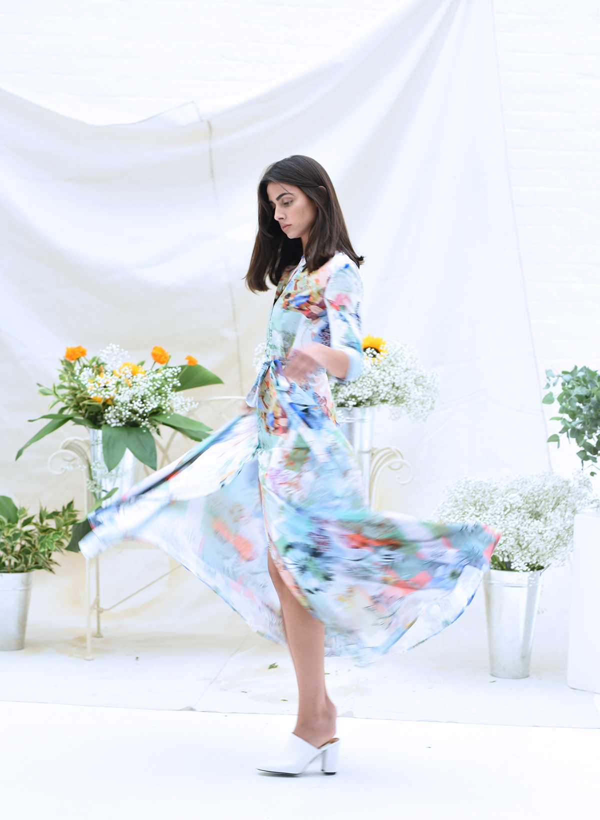
[[[359,663],[410,649],[455,621],[499,535],[370,510],[325,370],[302,385],[285,378],[286,359],[313,341],[348,354],[347,380],[359,375],[361,292],[357,266],[342,253],[313,272],[302,260],[285,276],[248,394],[256,411],[93,512],[84,555],[123,539],[156,544],[283,643],[270,550],[290,590],[325,624],[325,654]]]

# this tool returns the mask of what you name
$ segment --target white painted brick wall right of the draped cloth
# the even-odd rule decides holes
[[[600,3],[494,0],[508,162],[540,371],[600,367]],[[557,405],[548,408],[554,415]],[[557,430],[557,422],[548,422]],[[559,471],[575,449],[551,445]]]

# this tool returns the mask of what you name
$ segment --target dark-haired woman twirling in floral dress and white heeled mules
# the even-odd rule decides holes
[[[336,771],[324,655],[370,663],[441,631],[475,594],[499,535],[366,507],[335,421],[330,376],[361,371],[358,266],[334,187],[309,157],[275,162],[258,186],[247,283],[276,285],[248,408],[178,462],[90,516],[89,558],[123,538],[164,549],[262,635],[287,641],[298,721],[262,771]]]

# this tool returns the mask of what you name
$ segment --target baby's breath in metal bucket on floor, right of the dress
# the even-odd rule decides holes
[[[572,480],[552,472],[499,481],[465,477],[448,488],[436,519],[502,532],[484,576],[493,676],[529,676],[542,572],[566,562],[575,515],[590,505],[598,499],[580,474]]]

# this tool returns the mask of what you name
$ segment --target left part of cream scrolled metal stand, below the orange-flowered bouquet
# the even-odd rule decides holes
[[[198,402],[198,408],[196,412],[202,413],[202,421],[205,423],[212,424],[215,429],[220,427],[226,421],[229,421],[231,417],[233,417],[239,409],[239,403],[243,401],[243,396],[215,396],[212,399],[202,399]],[[209,413],[209,417],[207,419],[207,412]],[[184,437],[178,433],[176,430],[170,432],[169,438],[166,440],[165,444],[162,444],[160,439],[157,439],[157,467],[161,469],[161,467],[166,467],[167,464],[170,464],[176,456],[173,455],[170,450],[175,444],[177,437],[180,436],[181,439]],[[189,445],[189,440],[185,440],[185,443]],[[65,439],[61,443],[60,449],[57,449],[50,458],[48,458],[48,469],[55,475],[61,476],[68,470],[82,470],[84,471],[85,481],[84,481],[84,514],[87,516],[89,509],[93,506],[93,496],[89,490],[88,485],[88,477],[90,475],[90,465],[93,461],[93,457],[96,456],[96,453],[92,453],[93,445],[90,444],[89,440],[82,439],[79,436],[71,436],[68,439]],[[125,453],[125,458],[131,458],[130,453]],[[130,473],[128,476],[130,484],[133,485],[135,481],[141,481],[144,475],[149,476],[152,470],[149,467],[146,467],[143,464],[139,464],[139,470],[136,471],[131,468],[131,465],[127,466],[127,471]],[[116,481],[120,484],[120,490],[125,491],[129,489],[125,487],[124,481],[117,479]],[[116,483],[116,482],[115,482]],[[110,489],[110,488],[107,488]],[[110,503],[110,499],[107,501]],[[157,549],[157,547],[152,547],[149,544],[144,544],[144,549]],[[134,544],[127,544],[123,542],[122,547],[127,549],[134,547]],[[94,565],[94,575],[95,575],[95,594],[92,592],[92,563]],[[139,590],[134,590],[129,595],[126,595],[125,598],[120,599],[117,601],[116,604],[111,604],[110,607],[103,607],[101,604],[100,599],[100,556],[96,558],[89,558],[85,559],[85,617],[86,617],[86,631],[85,631],[85,638],[86,638],[86,660],[93,660],[93,650],[92,650],[92,637],[94,638],[102,638],[102,631],[101,631],[101,615],[102,613],[110,612],[111,609],[115,609],[116,607],[120,606],[120,604],[124,604],[125,601],[128,601],[130,598],[133,598],[134,595],[143,592],[143,590],[147,590],[149,586],[156,584],[158,581],[162,581],[163,578],[170,575],[171,572],[175,572],[176,570],[180,569],[181,565],[178,564],[177,567],[173,567],[173,569],[169,570],[169,572],[163,573],[158,578],[155,578],[153,581],[150,581],[148,584],[142,586]],[[92,635],[92,620],[95,615],[96,621],[96,631]]]

